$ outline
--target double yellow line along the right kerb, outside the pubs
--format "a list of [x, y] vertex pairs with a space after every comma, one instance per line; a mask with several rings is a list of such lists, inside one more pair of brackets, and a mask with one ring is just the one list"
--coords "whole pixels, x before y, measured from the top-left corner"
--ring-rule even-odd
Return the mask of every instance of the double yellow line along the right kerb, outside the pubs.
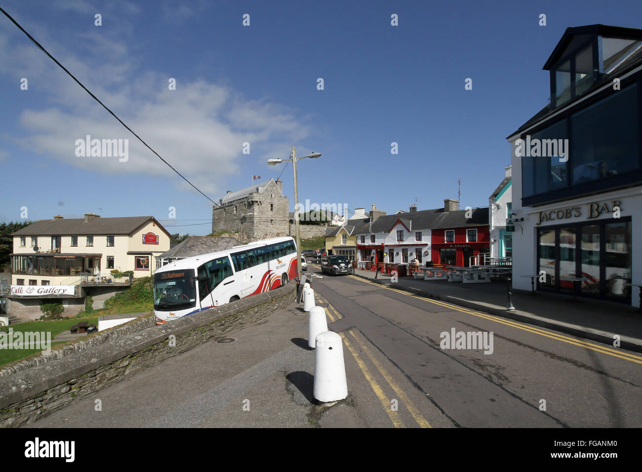
[[571, 338], [571, 337], [568, 337], [568, 336], [560, 335], [558, 333], [553, 333], [551, 331], [546, 331], [544, 329], [534, 328], [532, 326], [527, 326], [525, 324], [521, 324], [521, 323], [518, 323], [516, 321], [512, 321], [512, 320], [509, 320], [509, 319], [496, 317], [496, 316], [493, 316], [493, 315], [489, 315], [487, 313], [480, 313], [479, 311], [468, 310], [467, 308], [461, 308], [460, 306], [456, 306], [456, 305], [453, 305], [453, 304], [450, 304], [450, 303], [437, 301], [437, 300], [432, 300], [432, 299], [428, 299], [426, 297], [419, 297], [417, 295], [413, 295], [412, 293], [406, 292], [404, 290], [398, 290], [397, 288], [390, 288], [390, 287], [386, 287], [386, 286], [381, 285], [381, 284], [377, 284], [377, 283], [374, 283], [374, 282], [369, 282], [367, 280], [361, 279], [361, 277], [356, 277], [355, 275], [348, 275], [348, 277], [352, 277], [353, 279], [361, 281], [363, 283], [367, 283], [367, 284], [370, 284], [370, 285], [375, 285], [375, 286], [377, 286], [379, 288], [385, 288], [386, 290], [392, 290], [392, 292], [401, 293], [402, 295], [406, 295], [408, 297], [413, 297], [413, 298], [415, 298], [417, 300], [421, 300], [421, 301], [424, 301], [424, 302], [430, 302], [430, 303], [433, 303], [435, 305], [443, 306], [444, 308], [448, 308], [449, 310], [462, 311], [462, 313], [468, 313], [469, 315], [473, 315], [475, 317], [479, 317], [479, 318], [483, 318], [483, 319], [486, 319], [486, 320], [494, 321], [496, 323], [505, 324], [506, 326], [510, 326], [512, 328], [521, 329], [523, 331], [528, 331], [529, 333], [534, 333], [536, 335], [540, 335], [540, 336], [544, 336], [544, 337], [547, 337], [547, 338], [555, 339], [557, 341], [566, 342], [567, 344], [573, 344], [573, 345], [577, 345], [579, 347], [584, 347], [585, 349], [591, 349], [591, 351], [596, 351], [598, 353], [608, 354], [609, 356], [618, 357], [620, 359], [628, 360], [630, 362], [636, 362], [636, 363], [642, 364], [642, 357], [641, 356], [636, 356], [634, 354], [630, 354], [627, 351], [622, 351], [622, 350], [618, 351], [617, 349], [611, 349], [611, 347], [606, 347], [606, 346], [599, 345], [599, 344], [593, 344], [591, 342], [582, 341], [582, 340], [579, 340], [579, 339], [575, 339], [575, 338]]

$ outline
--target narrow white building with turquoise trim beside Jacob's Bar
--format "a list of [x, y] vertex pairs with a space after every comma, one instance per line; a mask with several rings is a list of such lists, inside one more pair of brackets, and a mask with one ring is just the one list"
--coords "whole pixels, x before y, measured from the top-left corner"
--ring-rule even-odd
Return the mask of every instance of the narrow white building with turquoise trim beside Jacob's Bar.
[[513, 233], [506, 231], [506, 220], [512, 211], [513, 191], [511, 167], [504, 168], [504, 179], [488, 199], [490, 256], [510, 258], [513, 254]]

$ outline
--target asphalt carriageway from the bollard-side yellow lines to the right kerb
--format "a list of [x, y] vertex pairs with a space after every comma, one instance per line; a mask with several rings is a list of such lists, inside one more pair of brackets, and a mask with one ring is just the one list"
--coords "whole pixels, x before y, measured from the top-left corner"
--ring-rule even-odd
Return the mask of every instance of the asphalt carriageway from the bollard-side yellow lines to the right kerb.
[[[360, 333], [455, 426], [642, 426], [639, 354], [310, 269], [343, 315], [330, 329]], [[492, 331], [492, 353], [442, 349], [453, 329]]]

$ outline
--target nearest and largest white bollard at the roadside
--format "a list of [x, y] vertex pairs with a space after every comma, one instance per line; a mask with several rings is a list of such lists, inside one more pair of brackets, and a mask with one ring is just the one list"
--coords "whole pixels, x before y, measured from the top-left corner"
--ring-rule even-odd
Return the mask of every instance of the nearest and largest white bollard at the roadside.
[[318, 401], [338, 401], [348, 396], [340, 335], [325, 331], [316, 338], [314, 396]]

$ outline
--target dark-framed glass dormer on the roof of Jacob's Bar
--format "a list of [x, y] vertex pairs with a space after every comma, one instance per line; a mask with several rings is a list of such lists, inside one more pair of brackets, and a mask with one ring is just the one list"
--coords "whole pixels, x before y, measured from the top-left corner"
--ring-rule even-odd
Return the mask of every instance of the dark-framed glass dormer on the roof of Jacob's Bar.
[[568, 28], [544, 70], [551, 73], [551, 107], [582, 96], [642, 48], [642, 30], [595, 24]]

